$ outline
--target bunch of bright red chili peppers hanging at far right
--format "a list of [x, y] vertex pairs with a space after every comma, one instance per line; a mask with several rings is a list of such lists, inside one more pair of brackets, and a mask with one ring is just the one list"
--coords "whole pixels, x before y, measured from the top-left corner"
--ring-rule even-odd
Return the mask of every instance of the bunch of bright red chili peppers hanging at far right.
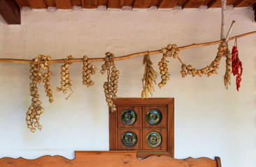
[[236, 90], [239, 91], [240, 82], [242, 81], [241, 75], [243, 74], [243, 67], [242, 62], [239, 59], [239, 51], [237, 50], [236, 45], [234, 45], [232, 49], [232, 73], [236, 76]]

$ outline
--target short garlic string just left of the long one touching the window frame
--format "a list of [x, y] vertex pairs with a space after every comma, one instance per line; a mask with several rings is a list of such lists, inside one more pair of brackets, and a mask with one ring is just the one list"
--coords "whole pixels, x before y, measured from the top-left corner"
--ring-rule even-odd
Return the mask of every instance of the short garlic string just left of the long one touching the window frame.
[[91, 79], [91, 74], [95, 74], [95, 67], [91, 65], [92, 61], [87, 56], [83, 56], [83, 84], [89, 88], [94, 85], [94, 81]]

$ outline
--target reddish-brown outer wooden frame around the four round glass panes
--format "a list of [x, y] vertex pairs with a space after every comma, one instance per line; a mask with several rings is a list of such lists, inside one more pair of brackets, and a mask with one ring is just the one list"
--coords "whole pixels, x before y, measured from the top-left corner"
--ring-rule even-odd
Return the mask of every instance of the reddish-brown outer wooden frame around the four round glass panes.
[[[137, 151], [137, 158], [144, 159], [151, 155], [167, 155], [174, 157], [174, 98], [149, 98], [142, 100], [141, 98], [118, 98], [113, 100], [116, 106], [166, 106], [167, 107], [167, 150], [166, 151]], [[118, 150], [118, 128], [117, 128], [118, 112], [111, 112], [109, 109], [109, 150]], [[128, 151], [128, 150], [127, 150]]]

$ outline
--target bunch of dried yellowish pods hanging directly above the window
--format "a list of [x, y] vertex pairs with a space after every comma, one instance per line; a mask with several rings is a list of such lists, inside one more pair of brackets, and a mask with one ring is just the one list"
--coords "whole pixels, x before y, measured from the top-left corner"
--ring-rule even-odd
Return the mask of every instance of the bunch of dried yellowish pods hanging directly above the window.
[[155, 70], [152, 67], [153, 63], [152, 61], [150, 61], [149, 54], [144, 56], [143, 64], [145, 64], [145, 71], [142, 79], [143, 90], [141, 91], [141, 98], [144, 99], [145, 97], [146, 99], [148, 99], [148, 92], [152, 95], [152, 90], [154, 90], [153, 82], [155, 82], [155, 77], [157, 77], [157, 72], [155, 72]]

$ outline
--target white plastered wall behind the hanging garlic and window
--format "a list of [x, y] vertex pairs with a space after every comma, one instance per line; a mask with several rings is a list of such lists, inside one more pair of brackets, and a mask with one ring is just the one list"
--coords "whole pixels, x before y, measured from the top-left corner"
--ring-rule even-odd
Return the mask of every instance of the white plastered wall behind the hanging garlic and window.
[[[104, 57], [106, 51], [123, 56], [155, 50], [169, 43], [178, 46], [220, 38], [220, 8], [185, 10], [23, 10], [21, 25], [7, 25], [0, 17], [0, 58], [31, 59], [37, 54], [53, 59], [72, 55]], [[253, 10], [228, 8], [231, 35], [256, 30]], [[227, 31], [226, 29], [226, 31]], [[232, 49], [234, 40], [229, 42]], [[175, 98], [175, 157], [219, 156], [225, 167], [256, 166], [256, 35], [239, 38], [243, 81], [239, 93], [235, 78], [223, 84], [224, 58], [218, 75], [181, 78], [180, 63], [170, 59], [171, 81], [156, 88], [153, 97]], [[215, 58], [218, 45], [181, 51], [184, 63], [205, 67]], [[151, 56], [155, 69], [161, 54]], [[143, 57], [117, 61], [119, 97], [140, 97]], [[99, 69], [102, 62], [94, 63]], [[60, 65], [52, 65], [51, 86], [60, 82]], [[0, 158], [35, 159], [59, 154], [73, 159], [73, 150], [108, 150], [108, 107], [102, 85], [106, 75], [92, 77], [95, 85], [82, 85], [82, 63], [70, 67], [73, 95], [69, 100], [54, 93], [49, 104], [43, 84], [39, 94], [45, 112], [43, 130], [32, 134], [25, 113], [30, 104], [29, 65], [0, 63]]]

